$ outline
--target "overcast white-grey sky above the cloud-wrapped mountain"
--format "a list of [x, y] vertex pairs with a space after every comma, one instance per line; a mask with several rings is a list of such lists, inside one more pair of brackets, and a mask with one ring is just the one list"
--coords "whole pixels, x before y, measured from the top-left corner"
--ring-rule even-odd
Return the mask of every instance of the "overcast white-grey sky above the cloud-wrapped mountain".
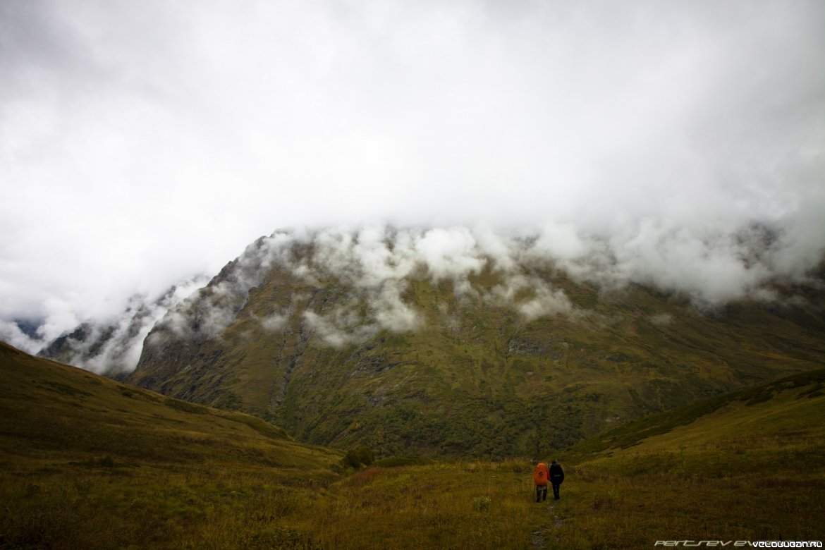
[[0, 0], [0, 324], [49, 340], [278, 228], [804, 275], [823, 57], [819, 0]]

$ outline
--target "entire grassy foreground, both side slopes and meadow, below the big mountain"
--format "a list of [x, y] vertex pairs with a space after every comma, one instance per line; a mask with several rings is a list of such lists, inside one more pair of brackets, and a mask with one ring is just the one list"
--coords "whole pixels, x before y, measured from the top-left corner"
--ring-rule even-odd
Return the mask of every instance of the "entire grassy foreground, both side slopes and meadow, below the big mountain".
[[6, 346], [0, 359], [0, 548], [825, 538], [823, 371], [651, 416], [558, 454], [563, 498], [536, 504], [526, 459], [388, 461], [336, 481], [339, 455], [250, 417], [167, 402]]

